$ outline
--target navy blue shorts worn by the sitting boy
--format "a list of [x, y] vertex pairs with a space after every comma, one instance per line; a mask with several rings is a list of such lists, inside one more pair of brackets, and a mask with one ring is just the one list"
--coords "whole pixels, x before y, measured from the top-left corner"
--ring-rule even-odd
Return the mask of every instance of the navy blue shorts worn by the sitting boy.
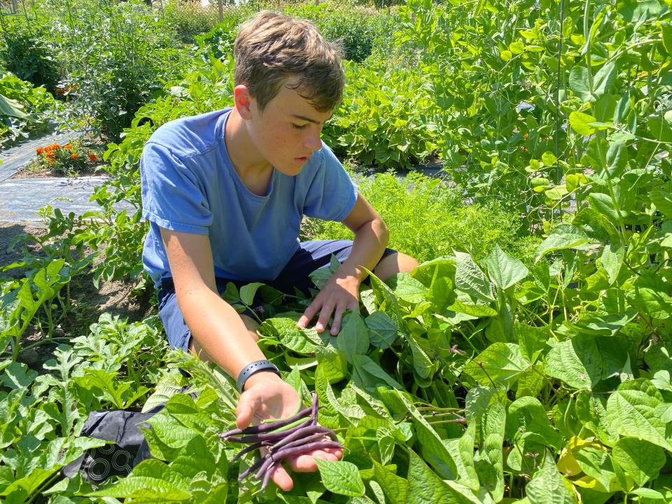
[[[329, 265], [331, 255], [335, 255], [340, 262], [344, 262], [350, 255], [351, 240], [320, 240], [302, 241], [299, 250], [292, 256], [278, 277], [272, 281], [259, 279], [267, 285], [293, 294], [294, 288], [302, 290], [306, 295], [309, 288], [314, 288], [309, 274], [315, 269]], [[396, 253], [392, 248], [386, 248], [383, 258]], [[217, 290], [221, 294], [226, 290], [226, 284], [235, 283], [237, 288], [250, 283], [248, 281], [216, 278]], [[368, 279], [367, 279], [368, 280]], [[365, 280], [365, 281], [367, 281]], [[187, 327], [182, 311], [177, 304], [177, 295], [172, 279], [163, 279], [159, 290], [159, 317], [168, 337], [171, 348], [188, 351], [191, 342], [191, 331]]]

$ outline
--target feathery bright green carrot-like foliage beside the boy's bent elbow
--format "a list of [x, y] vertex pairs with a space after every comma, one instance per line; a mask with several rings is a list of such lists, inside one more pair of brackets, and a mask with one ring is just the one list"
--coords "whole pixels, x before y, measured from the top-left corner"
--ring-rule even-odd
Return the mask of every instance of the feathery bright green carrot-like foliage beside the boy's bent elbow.
[[[496, 202], [465, 205], [461, 190], [439, 179], [411, 172], [404, 179], [391, 173], [364, 179], [360, 192], [390, 229], [388, 246], [430, 260], [450, 255], [453, 249], [482, 258], [496, 243], [521, 258], [531, 257], [529, 246], [521, 254], [519, 218]], [[352, 239], [340, 223], [309, 219], [302, 230], [309, 239]]]

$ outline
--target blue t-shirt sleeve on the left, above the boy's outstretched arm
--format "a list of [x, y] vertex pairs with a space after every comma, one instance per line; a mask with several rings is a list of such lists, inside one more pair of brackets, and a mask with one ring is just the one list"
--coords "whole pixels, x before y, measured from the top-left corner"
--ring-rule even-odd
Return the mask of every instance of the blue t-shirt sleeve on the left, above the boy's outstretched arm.
[[168, 148], [148, 142], [140, 158], [142, 216], [162, 228], [208, 235], [212, 223], [204, 191]]

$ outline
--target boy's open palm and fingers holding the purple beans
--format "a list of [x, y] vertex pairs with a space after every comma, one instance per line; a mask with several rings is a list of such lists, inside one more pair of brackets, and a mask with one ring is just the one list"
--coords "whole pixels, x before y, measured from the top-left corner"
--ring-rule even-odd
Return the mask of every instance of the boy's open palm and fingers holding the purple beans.
[[[298, 402], [299, 396], [293, 386], [286, 384], [276, 374], [255, 373], [246, 381], [245, 391], [238, 401], [236, 426], [246, 428], [251, 424], [258, 425], [262, 420], [291, 416], [295, 414]], [[317, 470], [316, 458], [337, 461], [342, 456], [343, 450], [327, 448], [288, 458], [288, 463], [295, 472], [312, 472]], [[291, 490], [294, 485], [282, 465], [278, 465], [271, 477], [284, 491]]]

